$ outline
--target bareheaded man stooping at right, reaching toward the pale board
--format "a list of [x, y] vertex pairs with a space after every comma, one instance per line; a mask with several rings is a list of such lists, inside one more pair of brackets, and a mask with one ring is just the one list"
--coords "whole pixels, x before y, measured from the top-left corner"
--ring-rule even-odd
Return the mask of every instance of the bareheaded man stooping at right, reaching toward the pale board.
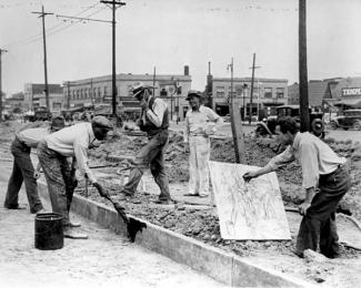
[[338, 203], [351, 186], [345, 158], [339, 157], [329, 145], [309, 132], [298, 132], [294, 119], [279, 121], [280, 141], [289, 145], [264, 167], [248, 172], [244, 181], [275, 171], [281, 165], [298, 160], [302, 167], [304, 202], [299, 206], [303, 215], [297, 237], [295, 254], [303, 257], [305, 249], [320, 251], [329, 258], [339, 254], [335, 227]]

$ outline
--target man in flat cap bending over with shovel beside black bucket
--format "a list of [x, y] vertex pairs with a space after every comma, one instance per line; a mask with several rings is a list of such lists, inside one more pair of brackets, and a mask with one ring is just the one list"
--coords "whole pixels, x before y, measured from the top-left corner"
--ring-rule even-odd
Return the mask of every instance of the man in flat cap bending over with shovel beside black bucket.
[[112, 125], [108, 119], [96, 116], [91, 123], [74, 124], [48, 135], [38, 145], [38, 156], [48, 183], [52, 210], [63, 216], [64, 237], [88, 238], [87, 235], [77, 233], [73, 228], [80, 225], [69, 219], [74, 187], [67, 158], [74, 157], [80, 173], [89, 178], [100, 195], [107, 195], [89, 168], [88, 148], [94, 140], [106, 140], [111, 130]]

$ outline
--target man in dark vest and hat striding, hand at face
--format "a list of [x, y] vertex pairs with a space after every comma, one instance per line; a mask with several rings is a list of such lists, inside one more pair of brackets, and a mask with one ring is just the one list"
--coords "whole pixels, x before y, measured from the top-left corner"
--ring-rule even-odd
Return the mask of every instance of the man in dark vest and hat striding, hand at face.
[[133, 96], [142, 107], [141, 119], [137, 121], [141, 131], [147, 132], [149, 142], [143, 146], [132, 161], [129, 182], [121, 191], [120, 199], [132, 196], [146, 171], [150, 171], [160, 188], [158, 204], [171, 204], [168, 175], [164, 165], [164, 151], [168, 144], [169, 112], [167, 103], [152, 95], [152, 88], [141, 82], [132, 86]]

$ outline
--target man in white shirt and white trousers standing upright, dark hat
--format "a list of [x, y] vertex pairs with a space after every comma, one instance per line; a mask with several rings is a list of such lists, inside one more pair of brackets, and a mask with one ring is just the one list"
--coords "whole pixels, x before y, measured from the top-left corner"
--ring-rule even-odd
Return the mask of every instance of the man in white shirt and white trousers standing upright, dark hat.
[[[213, 110], [202, 104], [203, 96], [199, 91], [188, 92], [190, 110], [185, 115], [184, 142], [189, 154], [189, 185], [184, 196], [207, 197], [209, 195], [208, 161], [211, 154], [209, 136], [214, 134], [223, 119]], [[215, 123], [215, 124], [214, 124]]]

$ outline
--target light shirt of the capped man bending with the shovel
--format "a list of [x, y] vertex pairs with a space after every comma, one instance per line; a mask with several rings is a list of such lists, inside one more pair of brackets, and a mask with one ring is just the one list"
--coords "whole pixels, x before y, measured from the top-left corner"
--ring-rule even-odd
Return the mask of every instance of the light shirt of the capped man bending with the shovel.
[[91, 123], [79, 123], [62, 128], [44, 140], [49, 148], [67, 157], [74, 156], [79, 171], [87, 174], [91, 183], [97, 182], [88, 165], [88, 148], [96, 140]]

